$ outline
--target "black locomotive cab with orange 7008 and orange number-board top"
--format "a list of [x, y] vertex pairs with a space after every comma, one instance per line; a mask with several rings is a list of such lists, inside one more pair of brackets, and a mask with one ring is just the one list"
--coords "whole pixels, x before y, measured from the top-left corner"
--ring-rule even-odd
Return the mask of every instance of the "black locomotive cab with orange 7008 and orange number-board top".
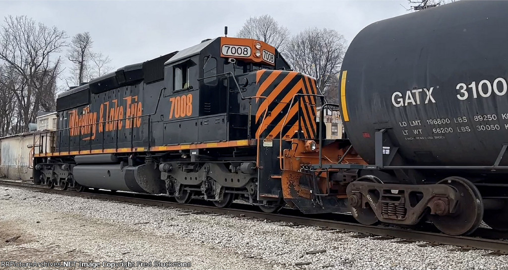
[[[289, 70], [289, 65], [264, 42], [219, 37], [177, 52], [165, 64], [164, 98], [169, 98], [164, 144], [220, 142], [252, 137], [245, 129], [248, 112], [238, 93], [255, 82], [257, 70]], [[242, 93], [251, 96], [251, 93]]]

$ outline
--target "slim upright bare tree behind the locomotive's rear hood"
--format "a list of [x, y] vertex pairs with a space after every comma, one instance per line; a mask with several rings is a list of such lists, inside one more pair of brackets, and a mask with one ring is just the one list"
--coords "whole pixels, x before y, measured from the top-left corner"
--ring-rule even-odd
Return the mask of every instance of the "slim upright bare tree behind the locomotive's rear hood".
[[83, 82], [83, 77], [87, 72], [92, 45], [93, 41], [88, 32], [78, 33], [72, 38], [67, 57], [74, 64], [71, 72], [78, 85]]

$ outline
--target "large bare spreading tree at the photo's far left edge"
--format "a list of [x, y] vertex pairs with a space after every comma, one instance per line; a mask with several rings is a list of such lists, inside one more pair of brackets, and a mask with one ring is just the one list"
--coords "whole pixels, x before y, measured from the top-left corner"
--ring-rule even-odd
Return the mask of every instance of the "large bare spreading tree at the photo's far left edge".
[[0, 65], [7, 69], [6, 91], [13, 94], [14, 132], [28, 130], [37, 112], [53, 109], [55, 80], [59, 75], [61, 49], [67, 35], [26, 16], [8, 16], [0, 31]]

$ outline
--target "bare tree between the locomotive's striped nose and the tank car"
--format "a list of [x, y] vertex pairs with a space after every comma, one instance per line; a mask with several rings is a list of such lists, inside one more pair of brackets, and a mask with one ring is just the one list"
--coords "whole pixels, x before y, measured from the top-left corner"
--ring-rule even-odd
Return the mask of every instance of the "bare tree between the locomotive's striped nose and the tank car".
[[344, 36], [333, 29], [313, 27], [291, 39], [286, 58], [295, 71], [314, 77], [323, 94], [336, 100], [333, 88], [345, 51]]

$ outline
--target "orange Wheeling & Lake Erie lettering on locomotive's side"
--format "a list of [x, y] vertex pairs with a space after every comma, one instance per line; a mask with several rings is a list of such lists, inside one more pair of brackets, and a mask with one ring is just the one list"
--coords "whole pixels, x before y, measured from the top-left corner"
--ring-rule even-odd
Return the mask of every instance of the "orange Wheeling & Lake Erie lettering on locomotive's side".
[[[99, 113], [91, 112], [90, 107], [69, 111], [69, 128], [71, 136], [89, 135], [83, 140], [93, 140], [97, 133], [141, 127], [143, 104], [138, 96], [129, 96], [120, 100], [106, 101], [101, 104]], [[125, 105], [125, 106], [123, 106]]]

